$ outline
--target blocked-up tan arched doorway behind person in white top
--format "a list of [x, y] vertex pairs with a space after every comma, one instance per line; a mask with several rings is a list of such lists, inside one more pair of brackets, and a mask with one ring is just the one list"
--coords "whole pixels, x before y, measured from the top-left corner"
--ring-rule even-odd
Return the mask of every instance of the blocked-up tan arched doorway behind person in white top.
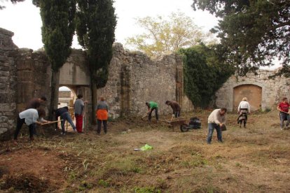
[[262, 102], [262, 88], [257, 85], [240, 85], [233, 89], [233, 107], [237, 110], [240, 101], [243, 97], [248, 98], [251, 105], [251, 110], [258, 110], [261, 108]]

